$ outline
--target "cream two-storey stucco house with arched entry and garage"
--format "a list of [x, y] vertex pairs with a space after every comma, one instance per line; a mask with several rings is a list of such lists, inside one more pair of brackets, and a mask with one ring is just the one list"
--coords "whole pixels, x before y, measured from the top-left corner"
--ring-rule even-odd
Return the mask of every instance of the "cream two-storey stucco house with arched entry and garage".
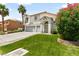
[[55, 29], [56, 14], [41, 12], [24, 16], [26, 32], [51, 33]]

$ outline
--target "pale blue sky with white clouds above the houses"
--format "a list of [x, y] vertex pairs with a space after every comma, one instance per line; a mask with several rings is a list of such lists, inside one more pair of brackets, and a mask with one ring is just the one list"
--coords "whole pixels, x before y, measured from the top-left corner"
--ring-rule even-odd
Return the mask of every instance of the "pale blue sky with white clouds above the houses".
[[[18, 7], [20, 4], [18, 3], [7, 3], [5, 6], [9, 9], [9, 16], [5, 17], [6, 19], [16, 19], [21, 21], [21, 14], [18, 12]], [[59, 9], [66, 7], [66, 3], [31, 3], [31, 4], [23, 4], [26, 8], [26, 14], [35, 14], [39, 12], [50, 12], [57, 14]], [[1, 16], [0, 16], [1, 21]]]

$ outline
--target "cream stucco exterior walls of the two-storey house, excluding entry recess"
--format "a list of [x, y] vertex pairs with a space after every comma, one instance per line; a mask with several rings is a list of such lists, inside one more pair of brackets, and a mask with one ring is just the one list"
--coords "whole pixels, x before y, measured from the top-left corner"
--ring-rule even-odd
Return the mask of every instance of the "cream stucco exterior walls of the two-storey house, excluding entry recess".
[[[48, 21], [48, 28], [46, 26], [46, 29], [43, 27], [44, 24], [43, 25], [41, 24], [41, 22], [42, 22], [41, 19], [45, 16], [48, 18], [48, 19], [45, 20], [45, 21]], [[28, 16], [25, 16], [25, 17], [26, 18], [28, 17], [28, 23], [25, 24], [25, 30], [26, 31], [44, 32], [46, 30], [46, 32], [52, 32], [52, 30], [54, 28], [53, 24], [54, 24], [56, 15], [51, 14], [51, 13], [47, 13], [47, 12], [43, 12], [43, 13], [38, 13], [38, 14], [34, 14], [34, 15], [28, 15]], [[36, 19], [35, 19], [35, 17], [36, 17]], [[49, 23], [50, 20], [51, 20], [51, 22], [50, 22], [51, 24]]]

